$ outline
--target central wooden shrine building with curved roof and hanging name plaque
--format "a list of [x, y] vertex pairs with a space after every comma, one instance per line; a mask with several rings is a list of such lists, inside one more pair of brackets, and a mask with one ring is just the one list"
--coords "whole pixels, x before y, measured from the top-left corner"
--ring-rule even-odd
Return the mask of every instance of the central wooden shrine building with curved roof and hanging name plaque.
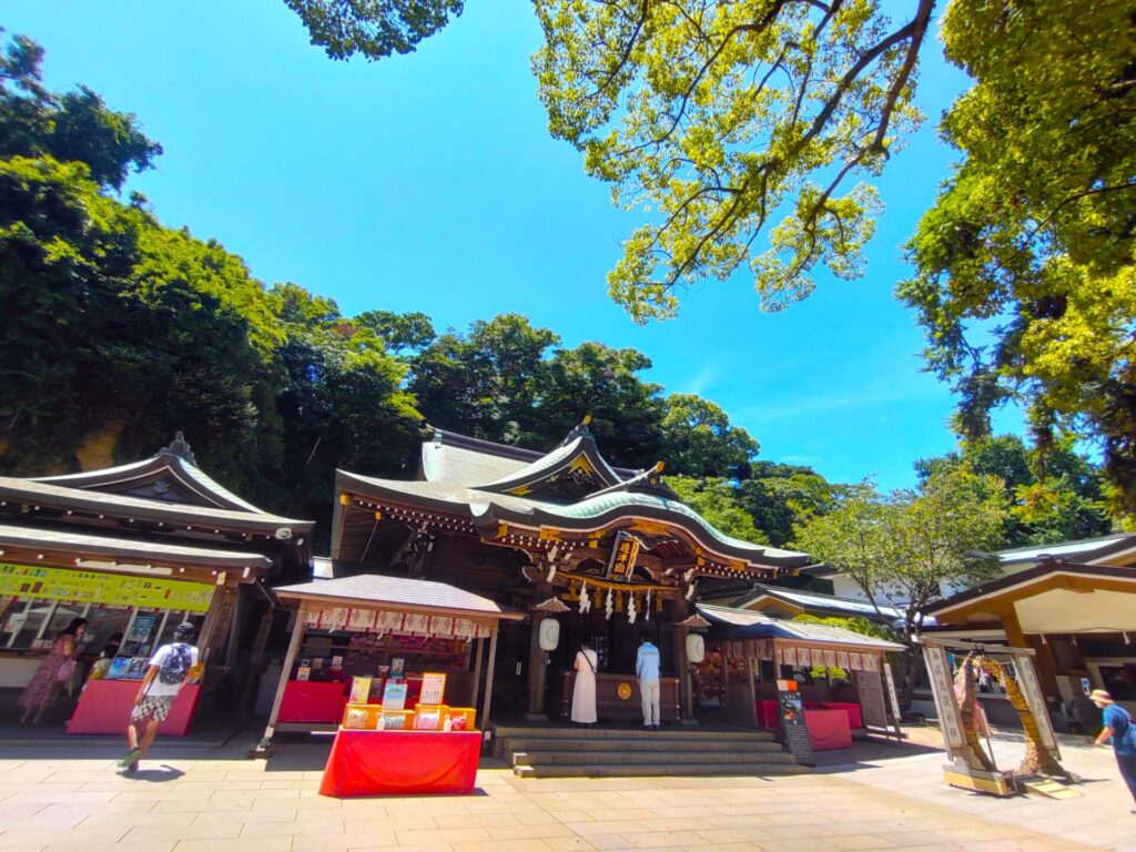
[[[546, 453], [436, 432], [415, 481], [339, 471], [334, 574], [429, 579], [527, 611], [527, 624], [502, 628], [499, 716], [540, 718], [558, 707], [559, 673], [582, 640], [602, 673], [628, 675], [646, 637], [663, 676], [679, 682], [690, 719], [684, 623], [698, 598], [795, 574], [809, 560], [715, 529], [661, 471], [610, 466], [587, 421]], [[542, 651], [550, 618], [560, 641]]]

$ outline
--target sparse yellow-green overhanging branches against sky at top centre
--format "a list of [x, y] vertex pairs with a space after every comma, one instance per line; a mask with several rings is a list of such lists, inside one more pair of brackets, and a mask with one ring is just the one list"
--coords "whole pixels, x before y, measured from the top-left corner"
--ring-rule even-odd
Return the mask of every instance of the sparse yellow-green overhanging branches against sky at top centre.
[[608, 276], [635, 320], [673, 316], [678, 285], [743, 265], [770, 309], [808, 295], [818, 265], [862, 273], [879, 201], [847, 184], [878, 174], [919, 120], [912, 82], [933, 0], [894, 26], [874, 0], [535, 6], [552, 135], [584, 152], [616, 203], [652, 215]]

